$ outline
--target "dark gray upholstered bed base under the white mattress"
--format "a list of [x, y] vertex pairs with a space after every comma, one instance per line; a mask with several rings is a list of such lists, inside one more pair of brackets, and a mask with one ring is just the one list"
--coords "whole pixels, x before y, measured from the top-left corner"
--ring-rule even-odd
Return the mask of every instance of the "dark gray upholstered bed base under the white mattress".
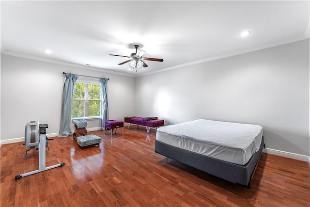
[[155, 140], [155, 152], [167, 158], [182, 162], [188, 166], [208, 174], [220, 177], [233, 183], [247, 186], [250, 189], [250, 180], [254, 174], [258, 161], [265, 146], [262, 137], [260, 149], [254, 153], [245, 165], [233, 164], [223, 160], [207, 157], [182, 148], [171, 146]]

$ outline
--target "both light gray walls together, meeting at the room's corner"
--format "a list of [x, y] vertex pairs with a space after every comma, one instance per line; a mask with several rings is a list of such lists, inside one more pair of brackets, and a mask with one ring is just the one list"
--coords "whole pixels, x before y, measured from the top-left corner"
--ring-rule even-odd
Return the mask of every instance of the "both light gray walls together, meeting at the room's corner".
[[[259, 124], [266, 147], [310, 155], [309, 39], [136, 78], [1, 54], [0, 140], [28, 121], [58, 133], [63, 74], [109, 78], [109, 118], [158, 116]], [[89, 121], [88, 128], [100, 127]], [[73, 129], [73, 126], [72, 126]]]

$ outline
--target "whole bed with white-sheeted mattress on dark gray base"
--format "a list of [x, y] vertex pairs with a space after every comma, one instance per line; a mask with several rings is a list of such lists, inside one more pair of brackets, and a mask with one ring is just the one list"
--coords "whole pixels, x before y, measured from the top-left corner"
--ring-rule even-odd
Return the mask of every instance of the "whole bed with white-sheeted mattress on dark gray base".
[[263, 127], [199, 119], [160, 127], [155, 152], [250, 188], [264, 147]]

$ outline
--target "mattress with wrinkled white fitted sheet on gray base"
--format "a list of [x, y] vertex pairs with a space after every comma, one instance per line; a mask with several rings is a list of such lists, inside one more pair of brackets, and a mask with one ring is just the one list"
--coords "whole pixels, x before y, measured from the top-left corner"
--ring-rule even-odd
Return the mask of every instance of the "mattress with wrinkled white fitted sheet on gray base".
[[245, 165], [260, 148], [263, 127], [199, 119], [160, 127], [156, 140], [227, 162]]

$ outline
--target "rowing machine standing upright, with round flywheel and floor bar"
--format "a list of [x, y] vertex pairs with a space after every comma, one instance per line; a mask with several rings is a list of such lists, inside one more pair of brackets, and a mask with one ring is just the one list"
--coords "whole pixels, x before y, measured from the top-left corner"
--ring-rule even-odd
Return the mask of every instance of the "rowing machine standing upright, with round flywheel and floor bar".
[[[47, 124], [40, 125], [37, 121], [27, 122], [25, 127], [25, 145], [26, 145], [26, 154], [30, 149], [38, 149], [39, 150], [39, 170], [34, 170], [29, 173], [24, 173], [21, 175], [16, 175], [15, 179], [20, 179], [21, 177], [25, 177], [27, 175], [32, 175], [35, 173], [40, 173], [42, 171], [46, 171], [52, 168], [61, 167], [64, 165], [64, 162], [52, 165], [49, 167], [45, 166], [45, 156], [48, 140], [46, 136], [46, 128]], [[52, 140], [52, 139], [50, 139]]]

